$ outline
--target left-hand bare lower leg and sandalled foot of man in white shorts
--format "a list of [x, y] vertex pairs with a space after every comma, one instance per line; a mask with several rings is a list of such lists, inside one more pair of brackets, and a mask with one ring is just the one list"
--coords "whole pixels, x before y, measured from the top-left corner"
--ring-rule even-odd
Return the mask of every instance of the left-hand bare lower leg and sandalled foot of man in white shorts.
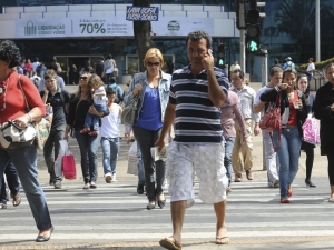
[[173, 236], [166, 237], [165, 239], [171, 242], [176, 241], [175, 244], [177, 247], [181, 247], [181, 230], [184, 226], [186, 208], [187, 201], [185, 200], [170, 202]]

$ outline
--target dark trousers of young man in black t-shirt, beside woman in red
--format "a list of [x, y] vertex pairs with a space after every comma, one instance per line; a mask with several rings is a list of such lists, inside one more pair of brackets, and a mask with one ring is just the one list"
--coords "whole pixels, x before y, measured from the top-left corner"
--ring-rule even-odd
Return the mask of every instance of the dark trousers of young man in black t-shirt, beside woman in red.
[[[61, 177], [56, 177], [55, 174], [55, 159], [58, 157], [59, 150], [60, 150], [60, 143], [59, 141], [63, 139], [65, 134], [65, 126], [62, 129], [51, 129], [50, 134], [48, 137], [48, 140], [46, 141], [45, 148], [43, 148], [43, 154], [45, 154], [45, 161], [48, 166], [48, 172], [50, 174], [50, 181], [61, 181]], [[55, 147], [55, 157], [52, 157], [52, 150]]]

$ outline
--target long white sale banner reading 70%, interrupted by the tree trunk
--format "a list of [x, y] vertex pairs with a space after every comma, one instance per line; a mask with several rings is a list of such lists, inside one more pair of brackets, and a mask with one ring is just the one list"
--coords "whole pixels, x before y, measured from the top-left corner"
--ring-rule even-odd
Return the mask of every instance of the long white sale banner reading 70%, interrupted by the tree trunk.
[[[134, 22], [125, 18], [37, 18], [16, 20], [16, 38], [134, 37]], [[205, 30], [214, 36], [214, 19], [160, 17], [151, 22], [153, 36], [187, 36]]]

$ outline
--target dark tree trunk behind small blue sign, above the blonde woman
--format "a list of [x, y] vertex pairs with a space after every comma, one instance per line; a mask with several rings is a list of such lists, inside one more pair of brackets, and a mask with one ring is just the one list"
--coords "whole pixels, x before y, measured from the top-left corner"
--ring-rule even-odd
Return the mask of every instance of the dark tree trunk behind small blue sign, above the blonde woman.
[[[151, 2], [151, 0], [134, 0], [134, 6], [149, 7]], [[154, 47], [150, 32], [150, 21], [134, 21], [134, 34], [139, 54], [139, 70], [141, 72], [145, 71], [143, 59], [147, 50]]]

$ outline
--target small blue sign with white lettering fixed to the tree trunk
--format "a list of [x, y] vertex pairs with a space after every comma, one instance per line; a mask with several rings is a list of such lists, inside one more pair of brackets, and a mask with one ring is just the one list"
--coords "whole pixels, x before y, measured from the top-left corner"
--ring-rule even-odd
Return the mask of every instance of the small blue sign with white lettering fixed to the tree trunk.
[[158, 21], [159, 8], [127, 6], [126, 19], [128, 21]]

